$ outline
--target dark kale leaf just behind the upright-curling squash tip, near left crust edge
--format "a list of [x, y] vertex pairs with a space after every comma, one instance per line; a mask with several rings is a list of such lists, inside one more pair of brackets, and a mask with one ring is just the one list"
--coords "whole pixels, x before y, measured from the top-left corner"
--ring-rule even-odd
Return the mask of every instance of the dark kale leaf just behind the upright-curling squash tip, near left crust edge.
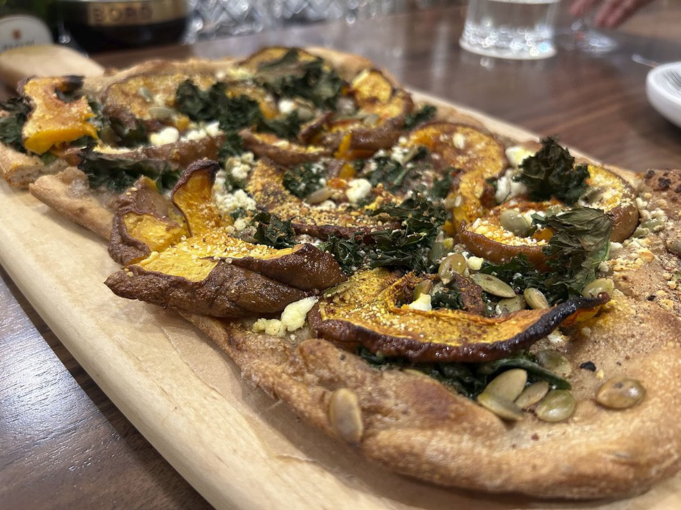
[[126, 160], [95, 153], [90, 148], [83, 151], [78, 167], [88, 176], [90, 187], [106, 187], [115, 192], [132, 186], [140, 176], [154, 180], [158, 189], [166, 192], [172, 189], [181, 173], [164, 160]]

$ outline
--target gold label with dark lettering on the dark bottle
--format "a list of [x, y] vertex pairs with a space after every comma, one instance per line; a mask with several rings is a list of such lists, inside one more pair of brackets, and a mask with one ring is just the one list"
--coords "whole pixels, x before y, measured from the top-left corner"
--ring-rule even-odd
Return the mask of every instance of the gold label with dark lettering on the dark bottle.
[[[88, 26], [144, 26], [187, 15], [186, 0], [88, 1], [72, 4]], [[83, 12], [85, 11], [85, 12]]]

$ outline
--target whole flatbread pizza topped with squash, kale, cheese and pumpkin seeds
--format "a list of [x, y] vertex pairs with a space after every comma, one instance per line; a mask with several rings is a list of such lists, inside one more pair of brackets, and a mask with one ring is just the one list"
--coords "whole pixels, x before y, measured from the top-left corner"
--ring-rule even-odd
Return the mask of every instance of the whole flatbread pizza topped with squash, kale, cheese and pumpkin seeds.
[[3, 109], [3, 177], [108, 240], [114, 294], [368, 459], [539, 498], [678, 472], [681, 171], [510, 139], [322, 49], [34, 78]]

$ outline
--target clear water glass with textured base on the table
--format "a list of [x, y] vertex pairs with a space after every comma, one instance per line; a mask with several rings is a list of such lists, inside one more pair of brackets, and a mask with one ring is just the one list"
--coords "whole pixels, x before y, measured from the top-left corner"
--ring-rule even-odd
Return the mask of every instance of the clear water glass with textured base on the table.
[[470, 0], [459, 44], [484, 56], [530, 60], [556, 53], [559, 0]]

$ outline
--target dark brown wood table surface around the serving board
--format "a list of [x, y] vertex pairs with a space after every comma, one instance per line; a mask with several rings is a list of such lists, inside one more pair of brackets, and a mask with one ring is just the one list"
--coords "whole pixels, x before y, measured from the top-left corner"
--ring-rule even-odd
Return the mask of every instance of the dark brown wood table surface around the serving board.
[[[559, 134], [561, 142], [599, 160], [634, 171], [680, 168], [681, 128], [650, 107], [649, 69], [631, 60], [633, 53], [681, 60], [681, 6], [662, 0], [656, 9], [614, 33], [618, 49], [600, 57], [559, 51], [555, 58], [520, 62], [466, 53], [457, 42], [464, 9], [454, 6], [97, 60], [122, 67], [151, 57], [245, 55], [266, 44], [328, 46], [367, 56], [416, 90], [541, 135]], [[567, 24], [561, 16], [559, 26]], [[208, 507], [114, 407], [2, 269], [0, 507]]]

